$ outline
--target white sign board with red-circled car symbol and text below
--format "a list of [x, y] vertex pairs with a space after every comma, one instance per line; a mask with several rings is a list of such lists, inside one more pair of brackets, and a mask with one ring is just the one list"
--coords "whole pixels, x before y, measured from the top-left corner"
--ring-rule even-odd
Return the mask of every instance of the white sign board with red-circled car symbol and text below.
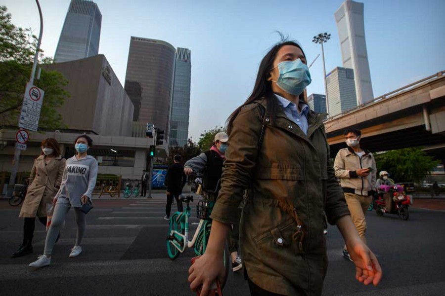
[[26, 85], [19, 127], [37, 132], [44, 94], [42, 89], [29, 83]]

